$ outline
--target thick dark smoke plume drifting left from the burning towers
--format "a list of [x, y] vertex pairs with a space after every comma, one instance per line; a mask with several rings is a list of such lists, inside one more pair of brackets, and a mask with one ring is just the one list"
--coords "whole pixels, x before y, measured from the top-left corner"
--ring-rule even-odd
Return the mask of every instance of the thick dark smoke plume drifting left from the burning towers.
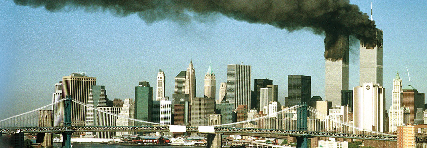
[[[159, 20], [191, 21], [222, 14], [249, 23], [269, 24], [290, 32], [309, 28], [315, 34], [335, 35], [325, 39], [325, 49], [339, 35], [352, 35], [375, 44], [375, 24], [348, 0], [14, 0], [17, 5], [44, 7], [56, 12], [68, 7], [110, 11], [114, 15], [137, 14], [146, 23]], [[191, 12], [192, 15], [186, 15]], [[325, 58], [336, 59], [333, 51]]]

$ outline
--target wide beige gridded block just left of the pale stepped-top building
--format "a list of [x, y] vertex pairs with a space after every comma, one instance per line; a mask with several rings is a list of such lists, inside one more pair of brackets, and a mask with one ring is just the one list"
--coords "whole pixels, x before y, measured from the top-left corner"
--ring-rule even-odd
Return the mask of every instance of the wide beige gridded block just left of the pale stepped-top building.
[[[96, 126], [116, 126], [116, 122], [118, 117], [111, 116], [108, 113], [120, 114], [120, 107], [98, 107], [99, 110], [102, 110], [107, 113], [98, 112], [97, 125]], [[114, 138], [116, 136], [116, 132], [114, 131], [104, 131], [104, 132], [96, 132], [97, 138]]]

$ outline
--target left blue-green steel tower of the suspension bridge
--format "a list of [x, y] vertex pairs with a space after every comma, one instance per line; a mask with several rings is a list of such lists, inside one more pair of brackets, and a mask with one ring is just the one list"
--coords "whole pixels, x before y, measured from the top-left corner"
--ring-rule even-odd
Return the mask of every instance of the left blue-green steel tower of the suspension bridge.
[[62, 133], [62, 148], [71, 148], [71, 102], [73, 98], [70, 95], [66, 96], [64, 100], [64, 127], [69, 131]]

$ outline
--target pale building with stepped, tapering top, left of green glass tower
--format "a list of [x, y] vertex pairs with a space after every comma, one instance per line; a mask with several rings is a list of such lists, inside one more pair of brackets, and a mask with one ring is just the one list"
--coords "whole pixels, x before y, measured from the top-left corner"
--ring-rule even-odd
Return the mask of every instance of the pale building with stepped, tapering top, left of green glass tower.
[[[135, 103], [133, 102], [133, 99], [126, 98], [123, 102], [123, 107], [120, 109], [120, 116], [126, 117], [126, 118], [135, 118]], [[125, 119], [125, 118], [118, 118], [116, 120], [116, 126], [133, 126], [134, 121]], [[116, 137], [121, 137], [124, 134], [133, 134], [132, 132], [122, 131], [122, 132], [116, 132]]]

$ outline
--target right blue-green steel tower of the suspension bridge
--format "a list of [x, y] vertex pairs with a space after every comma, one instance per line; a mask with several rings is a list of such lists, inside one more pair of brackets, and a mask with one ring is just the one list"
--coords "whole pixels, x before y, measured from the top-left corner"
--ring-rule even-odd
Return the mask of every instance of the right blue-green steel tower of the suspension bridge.
[[[307, 131], [307, 117], [308, 117], [308, 105], [307, 103], [303, 103], [301, 107], [297, 108], [297, 124], [296, 130], [298, 131]], [[297, 148], [308, 148], [308, 135], [302, 135], [296, 137], [296, 147]]]

